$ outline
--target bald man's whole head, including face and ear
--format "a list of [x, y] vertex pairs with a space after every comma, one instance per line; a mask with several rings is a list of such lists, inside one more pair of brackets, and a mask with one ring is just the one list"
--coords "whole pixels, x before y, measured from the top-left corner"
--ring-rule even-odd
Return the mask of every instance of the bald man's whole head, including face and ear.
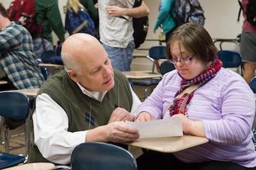
[[64, 41], [61, 57], [68, 76], [91, 92], [104, 92], [115, 85], [108, 54], [95, 37], [77, 33]]

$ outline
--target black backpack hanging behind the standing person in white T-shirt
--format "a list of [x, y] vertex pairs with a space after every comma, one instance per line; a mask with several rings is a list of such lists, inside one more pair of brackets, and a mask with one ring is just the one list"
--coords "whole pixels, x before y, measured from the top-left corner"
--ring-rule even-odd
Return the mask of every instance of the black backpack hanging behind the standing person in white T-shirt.
[[[142, 0], [135, 0], [133, 7], [139, 7], [141, 3]], [[135, 48], [139, 48], [147, 36], [147, 30], [149, 28], [148, 17], [132, 18], [132, 25], [134, 29], [133, 38]]]

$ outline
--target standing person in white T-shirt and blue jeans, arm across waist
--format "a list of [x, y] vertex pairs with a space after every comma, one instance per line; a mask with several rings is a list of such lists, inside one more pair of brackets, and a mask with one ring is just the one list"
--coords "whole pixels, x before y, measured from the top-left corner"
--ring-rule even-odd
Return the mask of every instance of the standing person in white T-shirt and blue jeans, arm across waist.
[[135, 0], [98, 1], [100, 41], [109, 54], [114, 69], [130, 71], [132, 53], [135, 48], [132, 18], [150, 14], [144, 1], [133, 7]]

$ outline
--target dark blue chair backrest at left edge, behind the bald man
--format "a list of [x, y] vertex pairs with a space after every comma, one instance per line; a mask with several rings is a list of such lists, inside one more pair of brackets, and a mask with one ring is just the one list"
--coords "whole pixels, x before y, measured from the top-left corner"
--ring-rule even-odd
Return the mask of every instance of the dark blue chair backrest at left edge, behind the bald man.
[[29, 98], [19, 92], [0, 92], [0, 116], [25, 120], [29, 115]]

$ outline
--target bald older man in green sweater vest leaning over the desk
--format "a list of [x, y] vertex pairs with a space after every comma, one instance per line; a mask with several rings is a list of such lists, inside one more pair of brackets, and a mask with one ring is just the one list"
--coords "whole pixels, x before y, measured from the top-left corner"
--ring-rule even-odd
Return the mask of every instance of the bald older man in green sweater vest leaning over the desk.
[[141, 103], [128, 80], [112, 68], [106, 51], [91, 35], [64, 41], [65, 70], [40, 89], [33, 113], [31, 161], [70, 163], [75, 146], [86, 141], [127, 143], [139, 138], [123, 122]]

